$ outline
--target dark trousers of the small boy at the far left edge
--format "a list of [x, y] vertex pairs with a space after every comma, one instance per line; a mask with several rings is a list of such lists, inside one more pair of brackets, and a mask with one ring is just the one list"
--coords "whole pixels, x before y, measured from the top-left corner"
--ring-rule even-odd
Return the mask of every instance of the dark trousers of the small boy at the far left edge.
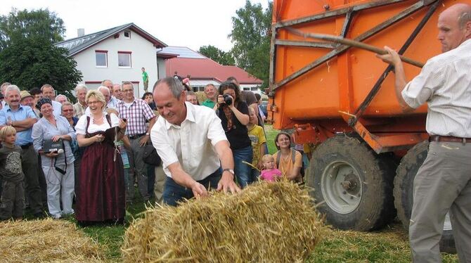
[[19, 219], [23, 217], [23, 206], [25, 206], [25, 192], [23, 182], [2, 182], [0, 220], [13, 217]]

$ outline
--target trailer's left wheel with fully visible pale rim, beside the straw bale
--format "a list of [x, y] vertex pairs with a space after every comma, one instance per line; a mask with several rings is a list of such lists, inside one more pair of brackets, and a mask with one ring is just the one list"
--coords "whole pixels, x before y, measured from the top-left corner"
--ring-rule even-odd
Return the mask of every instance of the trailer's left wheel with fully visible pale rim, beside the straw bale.
[[345, 134], [314, 151], [307, 184], [319, 212], [339, 229], [380, 229], [396, 214], [392, 198], [394, 169], [366, 143]]

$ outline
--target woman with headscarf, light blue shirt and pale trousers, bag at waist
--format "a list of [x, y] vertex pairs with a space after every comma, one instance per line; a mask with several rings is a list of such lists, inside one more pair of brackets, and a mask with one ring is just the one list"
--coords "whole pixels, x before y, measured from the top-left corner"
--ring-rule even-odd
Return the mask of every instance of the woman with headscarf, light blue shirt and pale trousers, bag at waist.
[[52, 101], [49, 98], [41, 98], [36, 107], [42, 117], [33, 125], [33, 146], [41, 155], [41, 166], [47, 184], [49, 214], [58, 219], [63, 215], [74, 213], [72, 198], [75, 158], [70, 142], [75, 139], [75, 131], [65, 117], [53, 115]]

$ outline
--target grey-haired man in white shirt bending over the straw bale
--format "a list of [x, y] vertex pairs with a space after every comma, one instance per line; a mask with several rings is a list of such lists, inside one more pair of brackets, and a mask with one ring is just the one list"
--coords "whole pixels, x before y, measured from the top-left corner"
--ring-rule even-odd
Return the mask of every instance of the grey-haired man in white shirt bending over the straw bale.
[[161, 117], [150, 139], [168, 177], [164, 203], [206, 196], [209, 186], [224, 193], [240, 191], [234, 182], [232, 151], [214, 110], [186, 102], [183, 85], [173, 77], [155, 83], [153, 95]]

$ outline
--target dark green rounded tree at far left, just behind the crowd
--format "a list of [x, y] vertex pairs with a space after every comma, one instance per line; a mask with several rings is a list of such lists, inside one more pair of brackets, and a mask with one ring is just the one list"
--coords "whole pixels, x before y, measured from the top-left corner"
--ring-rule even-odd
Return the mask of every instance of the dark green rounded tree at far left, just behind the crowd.
[[28, 37], [0, 51], [0, 83], [11, 82], [28, 90], [51, 84], [58, 93], [71, 96], [70, 90], [82, 80], [76, 65], [67, 58], [67, 49], [43, 37]]

